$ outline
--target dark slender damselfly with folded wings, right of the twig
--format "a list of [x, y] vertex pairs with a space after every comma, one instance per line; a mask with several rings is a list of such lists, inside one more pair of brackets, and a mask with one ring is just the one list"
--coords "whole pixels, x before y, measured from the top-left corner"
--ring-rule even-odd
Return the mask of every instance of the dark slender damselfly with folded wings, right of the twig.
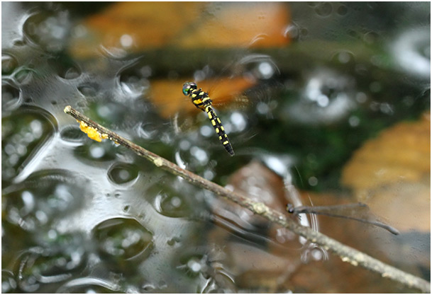
[[384, 224], [378, 221], [375, 216], [370, 212], [369, 206], [364, 203], [351, 203], [351, 204], [339, 204], [329, 206], [298, 206], [294, 207], [292, 204], [287, 204], [287, 212], [298, 215], [298, 214], [320, 214], [325, 216], [340, 217], [345, 219], [353, 219], [360, 221], [365, 224], [372, 224], [379, 226], [382, 229], [399, 235], [399, 231], [394, 227]]

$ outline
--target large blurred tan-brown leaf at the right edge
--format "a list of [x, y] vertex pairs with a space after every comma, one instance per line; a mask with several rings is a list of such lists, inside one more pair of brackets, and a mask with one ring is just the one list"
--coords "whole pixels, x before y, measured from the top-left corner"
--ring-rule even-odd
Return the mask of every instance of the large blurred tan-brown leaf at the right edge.
[[431, 229], [431, 117], [402, 122], [355, 152], [342, 183], [399, 230]]

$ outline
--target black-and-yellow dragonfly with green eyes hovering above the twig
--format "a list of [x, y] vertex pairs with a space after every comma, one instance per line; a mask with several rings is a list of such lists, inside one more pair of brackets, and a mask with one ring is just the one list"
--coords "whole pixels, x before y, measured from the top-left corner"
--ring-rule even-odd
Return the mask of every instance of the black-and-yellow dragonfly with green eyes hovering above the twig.
[[225, 132], [225, 128], [223, 128], [221, 119], [219, 119], [216, 112], [214, 112], [211, 107], [211, 99], [209, 98], [209, 93], [206, 93], [198, 89], [196, 83], [194, 82], [186, 82], [183, 84], [183, 94], [184, 96], [189, 96], [192, 99], [192, 103], [199, 108], [203, 112], [206, 112], [209, 116], [209, 120], [211, 125], [213, 125], [214, 130], [218, 134], [219, 140], [221, 141], [223, 147], [228, 151], [228, 154], [234, 156], [233, 146], [231, 146], [231, 142], [228, 139], [228, 135]]

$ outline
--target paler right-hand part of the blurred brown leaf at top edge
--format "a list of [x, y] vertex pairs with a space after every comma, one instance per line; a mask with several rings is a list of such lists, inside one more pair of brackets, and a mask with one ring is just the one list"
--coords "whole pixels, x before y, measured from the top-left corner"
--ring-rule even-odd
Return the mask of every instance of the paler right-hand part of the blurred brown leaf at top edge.
[[287, 45], [283, 35], [289, 24], [283, 3], [234, 3], [201, 16], [178, 45], [196, 47], [278, 47]]

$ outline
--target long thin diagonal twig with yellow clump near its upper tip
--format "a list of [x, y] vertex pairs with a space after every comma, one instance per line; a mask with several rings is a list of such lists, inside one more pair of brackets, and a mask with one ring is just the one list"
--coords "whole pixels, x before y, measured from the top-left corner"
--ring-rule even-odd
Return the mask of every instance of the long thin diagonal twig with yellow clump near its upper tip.
[[[206, 180], [199, 175], [195, 175], [188, 170], [184, 170], [179, 166], [175, 165], [175, 163], [167, 161], [165, 158], [157, 156], [157, 154], [153, 154], [152, 152], [143, 149], [141, 146], [134, 144], [132, 141], [129, 141], [128, 139], [121, 137], [115, 132], [112, 132], [106, 127], [97, 124], [93, 120], [90, 120], [88, 117], [82, 115], [80, 112], [72, 108], [70, 105], [67, 105], [64, 111], [65, 113], [71, 115], [81, 123], [81, 128], [84, 132], [92, 133], [92, 138], [94, 137], [94, 133], [96, 132], [96, 134], [99, 135], [99, 138], [96, 138], [96, 140], [100, 141], [101, 138], [106, 138], [116, 142], [117, 144], [126, 146], [126, 148], [131, 149], [139, 156], [147, 158], [149, 161], [155, 164], [155, 166], [167, 170], [174, 175], [180, 176], [187, 180], [189, 183], [192, 183], [193, 185], [202, 187], [206, 190], [210, 190], [216, 195], [225, 197], [226, 199], [236, 202], [242, 207], [250, 209], [250, 211], [252, 211], [253, 213], [263, 216], [265, 217], [265, 219], [275, 222], [283, 226], [284, 228], [289, 229], [294, 233], [297, 233], [299, 236], [303, 236], [312, 243], [323, 246], [323, 248], [326, 248], [326, 250], [330, 250], [331, 252], [335, 253], [345, 262], [350, 262], [354, 266], [361, 266], [367, 270], [377, 272], [381, 274], [382, 277], [393, 279], [394, 281], [404, 284], [406, 287], [419, 289], [420, 291], [423, 291], [425, 293], [431, 293], [431, 283], [427, 282], [425, 279], [415, 277], [412, 274], [408, 274], [406, 272], [398, 270], [396, 267], [386, 265], [380, 260], [372, 258], [365, 253], [355, 250], [354, 248], [350, 248], [347, 245], [339, 243], [333, 238], [329, 238], [328, 236], [323, 235], [323, 233], [313, 231], [309, 227], [297, 224], [297, 222], [295, 222], [294, 220], [287, 218], [284, 214], [270, 209], [261, 202], [255, 202], [248, 197], [238, 194], [237, 192], [227, 190], [225, 187], [221, 187], [220, 185], [212, 183], [211, 181]], [[89, 134], [89, 136], [91, 135]]]

